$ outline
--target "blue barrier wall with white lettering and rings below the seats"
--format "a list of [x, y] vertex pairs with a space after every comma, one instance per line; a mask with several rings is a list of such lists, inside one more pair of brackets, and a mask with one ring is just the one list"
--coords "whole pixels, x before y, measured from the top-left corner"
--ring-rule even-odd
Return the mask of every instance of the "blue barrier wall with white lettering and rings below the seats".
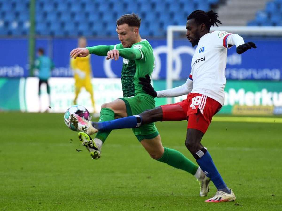
[[[166, 40], [148, 40], [155, 52], [156, 68], [154, 79], [166, 78]], [[252, 49], [242, 55], [236, 53], [236, 48], [228, 50], [226, 78], [234, 80], [281, 80], [282, 62], [280, 47], [281, 39], [247, 38], [245, 42], [253, 41], [257, 49]], [[111, 45], [119, 43], [115, 40], [89, 39], [88, 45]], [[56, 68], [54, 77], [70, 77], [69, 53], [76, 48], [76, 39], [37, 39], [36, 48], [43, 47], [47, 55], [52, 57]], [[27, 77], [28, 73], [28, 40], [0, 40], [0, 77]], [[174, 71], [175, 80], [186, 79], [191, 69], [193, 48], [186, 39], [174, 41]], [[122, 60], [106, 61], [104, 57], [92, 55], [93, 77], [120, 77]]]

